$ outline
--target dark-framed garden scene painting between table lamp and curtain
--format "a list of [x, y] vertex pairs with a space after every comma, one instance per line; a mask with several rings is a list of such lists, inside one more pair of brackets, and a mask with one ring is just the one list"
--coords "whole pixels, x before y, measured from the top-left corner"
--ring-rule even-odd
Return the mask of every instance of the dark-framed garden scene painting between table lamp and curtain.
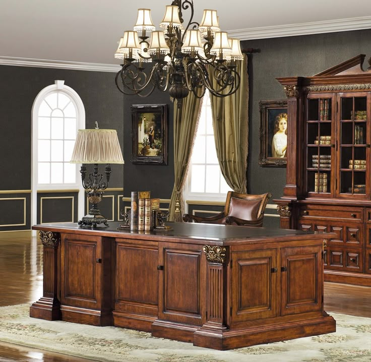
[[136, 164], [167, 165], [167, 104], [134, 104], [133, 152]]

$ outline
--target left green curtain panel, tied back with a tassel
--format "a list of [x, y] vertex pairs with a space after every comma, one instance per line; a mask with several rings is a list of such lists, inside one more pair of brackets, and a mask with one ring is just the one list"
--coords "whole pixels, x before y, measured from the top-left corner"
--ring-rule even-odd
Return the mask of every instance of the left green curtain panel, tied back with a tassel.
[[169, 221], [181, 221], [184, 210], [182, 187], [191, 158], [202, 98], [189, 93], [178, 108], [174, 101], [174, 188], [169, 204]]

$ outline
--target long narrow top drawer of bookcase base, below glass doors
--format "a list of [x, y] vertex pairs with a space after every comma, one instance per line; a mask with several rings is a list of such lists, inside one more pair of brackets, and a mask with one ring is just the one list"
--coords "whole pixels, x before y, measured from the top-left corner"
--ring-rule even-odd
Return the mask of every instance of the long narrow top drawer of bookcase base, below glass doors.
[[328, 221], [350, 221], [350, 222], [363, 222], [363, 209], [362, 208], [341, 208], [321, 207], [320, 205], [302, 205], [299, 210], [300, 218], [312, 219], [321, 218]]

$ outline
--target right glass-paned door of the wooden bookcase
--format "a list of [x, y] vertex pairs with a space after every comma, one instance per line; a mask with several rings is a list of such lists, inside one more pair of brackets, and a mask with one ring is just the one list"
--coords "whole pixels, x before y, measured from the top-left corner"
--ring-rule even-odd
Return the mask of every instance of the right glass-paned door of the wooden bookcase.
[[[337, 149], [339, 197], [369, 196], [369, 109], [367, 93], [343, 93], [338, 98]], [[368, 106], [369, 107], [369, 106]]]

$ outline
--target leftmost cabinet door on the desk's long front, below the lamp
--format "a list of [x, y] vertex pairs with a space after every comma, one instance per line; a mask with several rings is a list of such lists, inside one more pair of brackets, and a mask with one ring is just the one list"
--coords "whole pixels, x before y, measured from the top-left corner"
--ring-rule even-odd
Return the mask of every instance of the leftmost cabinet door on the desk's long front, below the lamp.
[[60, 301], [63, 305], [101, 308], [102, 239], [63, 234], [60, 249]]

